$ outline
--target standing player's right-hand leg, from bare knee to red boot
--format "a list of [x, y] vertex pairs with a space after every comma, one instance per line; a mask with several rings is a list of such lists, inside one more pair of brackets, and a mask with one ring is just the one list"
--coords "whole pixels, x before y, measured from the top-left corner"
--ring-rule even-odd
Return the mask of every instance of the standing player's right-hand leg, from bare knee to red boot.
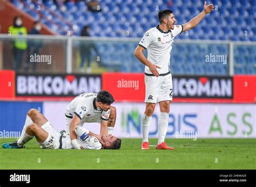
[[169, 124], [169, 112], [170, 112], [170, 101], [165, 100], [163, 102], [159, 102], [160, 106], [160, 116], [158, 120], [158, 143], [156, 149], [169, 149], [173, 150], [173, 147], [169, 147], [164, 142], [167, 128]]

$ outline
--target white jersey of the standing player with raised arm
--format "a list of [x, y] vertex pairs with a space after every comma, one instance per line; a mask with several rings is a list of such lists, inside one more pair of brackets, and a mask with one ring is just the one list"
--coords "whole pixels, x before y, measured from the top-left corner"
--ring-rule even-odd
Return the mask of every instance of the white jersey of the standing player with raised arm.
[[[147, 49], [147, 60], [159, 66], [159, 74], [166, 74], [170, 71], [170, 59], [174, 37], [181, 34], [182, 25], [174, 25], [173, 30], [162, 31], [157, 27], [150, 28], [139, 42], [139, 46]], [[145, 73], [152, 74], [149, 67], [145, 66]]]

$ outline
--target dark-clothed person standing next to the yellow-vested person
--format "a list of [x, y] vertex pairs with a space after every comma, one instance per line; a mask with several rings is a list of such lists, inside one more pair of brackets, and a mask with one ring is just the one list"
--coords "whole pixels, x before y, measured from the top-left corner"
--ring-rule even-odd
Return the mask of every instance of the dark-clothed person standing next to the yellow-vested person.
[[[40, 21], [35, 21], [33, 27], [29, 31], [29, 34], [41, 34], [41, 24]], [[28, 40], [28, 58], [25, 64], [25, 70], [28, 72], [30, 64], [32, 64], [33, 71], [36, 71], [37, 63], [30, 63], [30, 55], [38, 54], [43, 46], [41, 39], [29, 39]]]

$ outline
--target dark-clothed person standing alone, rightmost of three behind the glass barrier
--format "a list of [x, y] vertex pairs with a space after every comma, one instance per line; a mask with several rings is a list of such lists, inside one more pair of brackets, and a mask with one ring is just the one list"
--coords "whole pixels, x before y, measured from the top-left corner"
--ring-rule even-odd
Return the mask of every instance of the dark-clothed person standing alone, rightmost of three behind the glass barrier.
[[[81, 36], [90, 37], [90, 26], [84, 26], [81, 32]], [[79, 71], [81, 73], [84, 72], [84, 63], [86, 58], [87, 58], [86, 73], [91, 73], [91, 60], [92, 60], [91, 49], [94, 49], [95, 52], [98, 53], [97, 48], [95, 47], [92, 41], [81, 41], [80, 43], [81, 62], [79, 67]]]

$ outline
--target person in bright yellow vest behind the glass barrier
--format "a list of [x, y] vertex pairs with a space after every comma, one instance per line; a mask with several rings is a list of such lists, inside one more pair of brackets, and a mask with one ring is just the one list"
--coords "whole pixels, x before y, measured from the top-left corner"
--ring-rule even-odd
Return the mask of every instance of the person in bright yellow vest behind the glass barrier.
[[[10, 35], [26, 35], [26, 28], [23, 26], [22, 17], [16, 16], [14, 18], [14, 25], [8, 28]], [[14, 54], [13, 66], [15, 70], [21, 69], [24, 53], [26, 52], [26, 39], [15, 38], [12, 42], [12, 52]]]

